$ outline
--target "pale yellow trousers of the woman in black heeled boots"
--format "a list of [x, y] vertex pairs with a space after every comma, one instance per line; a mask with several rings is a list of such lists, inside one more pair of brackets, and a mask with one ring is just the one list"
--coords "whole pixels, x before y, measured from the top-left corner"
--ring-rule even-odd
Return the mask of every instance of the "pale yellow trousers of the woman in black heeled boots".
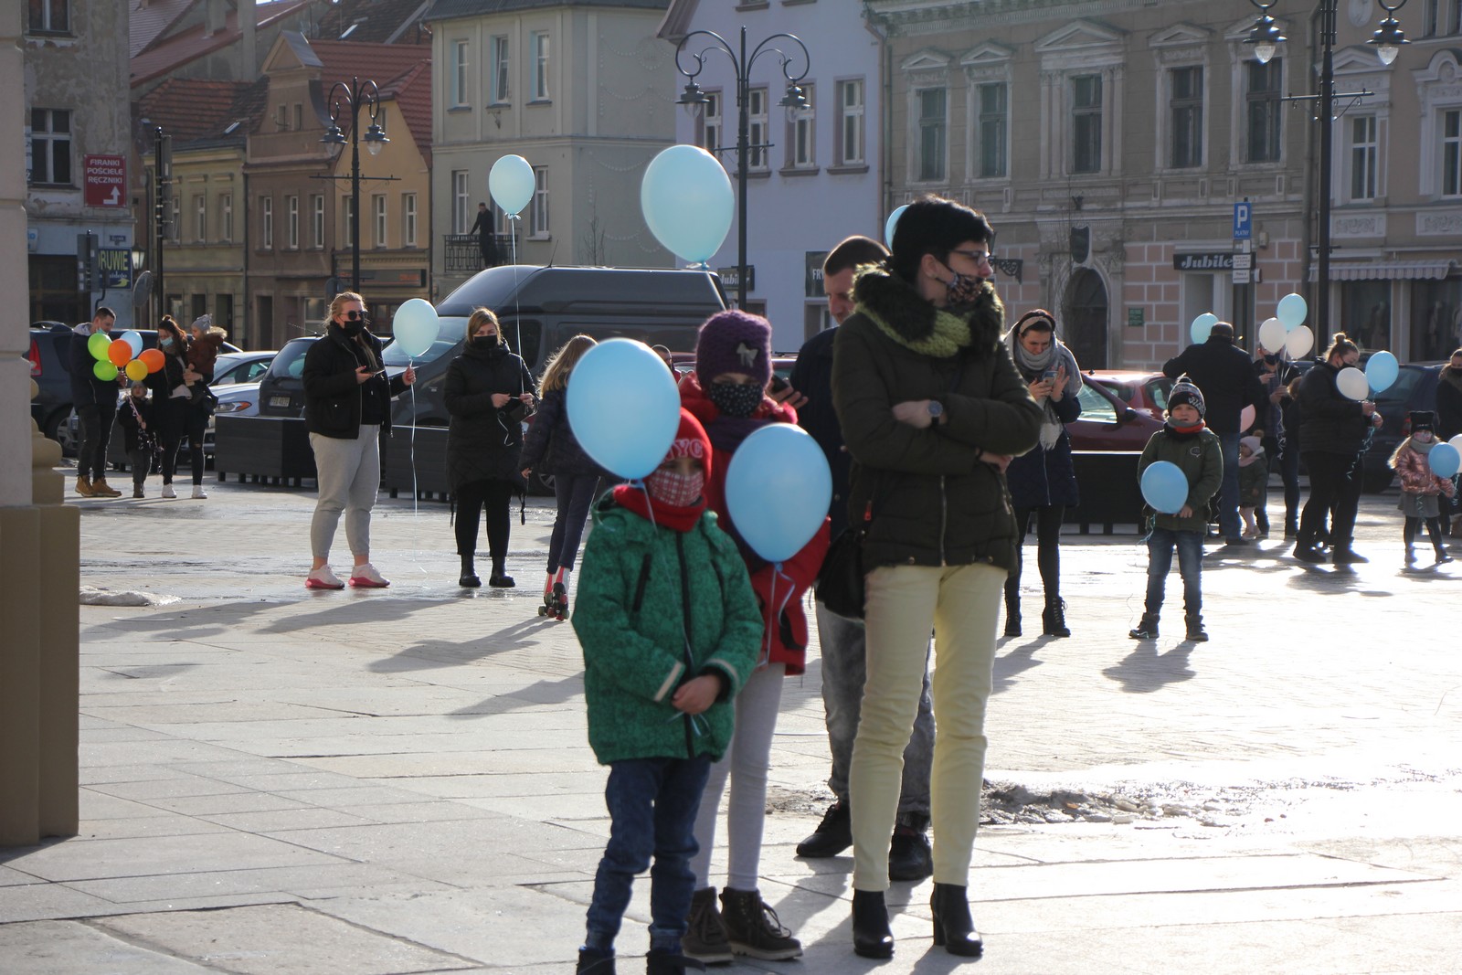
[[985, 703], [1006, 570], [994, 566], [885, 566], [868, 573], [868, 680], [852, 746], [857, 890], [887, 890], [889, 838], [899, 807], [904, 747], [914, 731], [934, 629], [934, 769], [930, 819], [934, 881], [963, 887], [980, 824]]

